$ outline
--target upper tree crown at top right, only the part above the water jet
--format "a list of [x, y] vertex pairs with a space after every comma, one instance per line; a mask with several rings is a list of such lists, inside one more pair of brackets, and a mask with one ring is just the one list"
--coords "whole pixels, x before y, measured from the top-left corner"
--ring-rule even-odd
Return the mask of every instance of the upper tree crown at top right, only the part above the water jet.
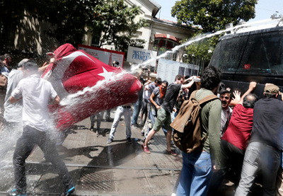
[[180, 0], [176, 1], [171, 14], [178, 23], [197, 25], [204, 33], [225, 28], [228, 23], [255, 18], [258, 0]]

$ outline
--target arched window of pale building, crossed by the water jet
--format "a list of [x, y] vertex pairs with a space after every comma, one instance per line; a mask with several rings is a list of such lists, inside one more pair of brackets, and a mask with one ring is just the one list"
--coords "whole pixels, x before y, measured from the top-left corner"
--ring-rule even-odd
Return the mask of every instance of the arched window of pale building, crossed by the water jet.
[[[157, 52], [157, 55], [161, 55], [167, 50], [171, 50], [176, 45], [179, 45], [178, 42], [175, 42], [173, 40], [169, 40], [167, 38], [155, 38], [154, 39], [154, 46], [153, 50]], [[173, 60], [175, 61], [177, 59], [177, 53], [175, 54], [168, 54], [165, 59]]]

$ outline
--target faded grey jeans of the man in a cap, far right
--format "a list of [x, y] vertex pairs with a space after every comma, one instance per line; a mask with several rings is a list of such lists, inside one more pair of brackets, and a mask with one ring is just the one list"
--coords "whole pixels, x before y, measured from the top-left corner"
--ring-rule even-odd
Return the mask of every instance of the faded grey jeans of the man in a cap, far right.
[[248, 195], [255, 175], [262, 168], [263, 195], [275, 195], [275, 181], [280, 164], [281, 152], [261, 142], [251, 142], [243, 160], [241, 180], [235, 196]]

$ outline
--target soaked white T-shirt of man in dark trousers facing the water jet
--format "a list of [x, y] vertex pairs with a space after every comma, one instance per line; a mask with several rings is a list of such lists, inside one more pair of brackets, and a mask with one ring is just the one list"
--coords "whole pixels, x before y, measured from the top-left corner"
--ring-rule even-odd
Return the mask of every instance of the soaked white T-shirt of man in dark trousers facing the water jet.
[[23, 126], [30, 126], [39, 131], [47, 131], [51, 125], [48, 111], [49, 101], [56, 98], [52, 84], [40, 75], [33, 74], [22, 79], [12, 92], [13, 98], [23, 97]]

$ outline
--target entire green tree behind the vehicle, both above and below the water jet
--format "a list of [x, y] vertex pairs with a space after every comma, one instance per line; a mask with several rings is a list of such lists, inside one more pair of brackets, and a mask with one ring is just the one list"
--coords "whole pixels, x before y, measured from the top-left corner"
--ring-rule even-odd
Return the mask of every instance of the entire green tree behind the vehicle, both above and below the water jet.
[[[180, 0], [171, 10], [178, 23], [198, 27], [196, 35], [225, 29], [225, 25], [238, 25], [241, 21], [255, 18], [258, 0]], [[196, 64], [196, 59], [209, 63], [219, 36], [195, 42], [185, 48], [187, 62]], [[192, 38], [193, 39], [193, 38]]]

